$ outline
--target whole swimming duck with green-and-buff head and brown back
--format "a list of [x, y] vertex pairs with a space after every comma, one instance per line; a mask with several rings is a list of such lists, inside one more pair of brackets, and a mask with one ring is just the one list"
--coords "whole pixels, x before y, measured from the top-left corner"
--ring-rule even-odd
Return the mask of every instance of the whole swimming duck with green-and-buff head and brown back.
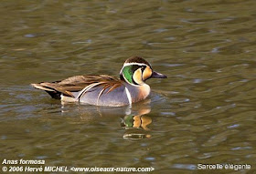
[[149, 78], [166, 78], [166, 76], [155, 72], [143, 57], [132, 56], [125, 60], [120, 78], [108, 75], [84, 75], [35, 83], [31, 86], [44, 90], [52, 98], [63, 102], [121, 107], [131, 106], [150, 95], [151, 89], [145, 83]]

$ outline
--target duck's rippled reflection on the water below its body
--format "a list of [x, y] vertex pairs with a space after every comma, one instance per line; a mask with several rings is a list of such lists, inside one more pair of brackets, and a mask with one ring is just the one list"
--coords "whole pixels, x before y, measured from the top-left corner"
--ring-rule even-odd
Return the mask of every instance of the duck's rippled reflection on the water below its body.
[[130, 107], [96, 107], [74, 105], [62, 102], [61, 112], [65, 115], [77, 115], [79, 112], [80, 119], [74, 120], [72, 123], [80, 124], [81, 122], [109, 122], [112, 124], [112, 119], [121, 118], [121, 126], [125, 129], [123, 138], [125, 139], [143, 139], [151, 138], [150, 129], [148, 126], [152, 123], [152, 118], [146, 116], [150, 113], [151, 100], [145, 99], [142, 102]]

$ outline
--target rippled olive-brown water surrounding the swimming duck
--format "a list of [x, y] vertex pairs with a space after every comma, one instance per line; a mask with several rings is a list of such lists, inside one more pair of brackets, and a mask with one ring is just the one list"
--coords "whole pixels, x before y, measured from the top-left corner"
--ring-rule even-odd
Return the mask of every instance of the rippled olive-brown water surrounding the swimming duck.
[[[1, 1], [1, 163], [256, 172], [255, 7], [254, 0]], [[29, 86], [118, 77], [135, 55], [168, 78], [150, 79], [153, 94], [133, 107], [61, 105]], [[200, 170], [200, 163], [251, 169]]]

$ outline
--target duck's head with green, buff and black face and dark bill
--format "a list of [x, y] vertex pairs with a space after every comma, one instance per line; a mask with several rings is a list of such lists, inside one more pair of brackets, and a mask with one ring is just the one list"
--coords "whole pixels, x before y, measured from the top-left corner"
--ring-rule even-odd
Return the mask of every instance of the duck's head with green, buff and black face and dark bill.
[[155, 72], [151, 65], [140, 56], [128, 58], [120, 71], [120, 79], [135, 86], [143, 85], [149, 78], [166, 78], [166, 76]]

